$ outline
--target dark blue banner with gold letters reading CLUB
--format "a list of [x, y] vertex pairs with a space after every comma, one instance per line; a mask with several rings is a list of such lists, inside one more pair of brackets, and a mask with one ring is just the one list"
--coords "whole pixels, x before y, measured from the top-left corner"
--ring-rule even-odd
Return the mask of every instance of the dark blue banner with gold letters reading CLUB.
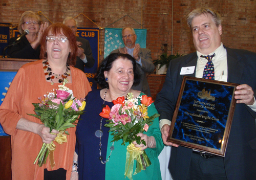
[[95, 82], [94, 77], [97, 73], [98, 64], [99, 64], [99, 29], [98, 28], [77, 28], [76, 36], [87, 39], [90, 42], [95, 63], [93, 68], [90, 68], [90, 69], [84, 68], [84, 72], [86, 73], [86, 76], [90, 82], [92, 89], [97, 89], [97, 83]]

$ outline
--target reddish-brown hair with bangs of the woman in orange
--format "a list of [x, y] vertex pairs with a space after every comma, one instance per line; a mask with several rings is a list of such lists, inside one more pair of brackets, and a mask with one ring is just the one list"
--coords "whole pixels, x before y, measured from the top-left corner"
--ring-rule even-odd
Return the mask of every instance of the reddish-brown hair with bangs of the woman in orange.
[[77, 44], [76, 44], [76, 36], [72, 32], [72, 30], [67, 27], [66, 25], [63, 25], [61, 23], [55, 23], [49, 26], [44, 34], [42, 34], [41, 38], [41, 53], [40, 53], [40, 58], [41, 59], [47, 59], [47, 53], [46, 53], [46, 36], [49, 35], [49, 32], [51, 31], [55, 36], [57, 34], [60, 34], [62, 30], [63, 35], [65, 35], [68, 38], [68, 42], [70, 45], [70, 50], [71, 52], [69, 53], [68, 56], [68, 65], [75, 65], [76, 64], [76, 55], [77, 55]]

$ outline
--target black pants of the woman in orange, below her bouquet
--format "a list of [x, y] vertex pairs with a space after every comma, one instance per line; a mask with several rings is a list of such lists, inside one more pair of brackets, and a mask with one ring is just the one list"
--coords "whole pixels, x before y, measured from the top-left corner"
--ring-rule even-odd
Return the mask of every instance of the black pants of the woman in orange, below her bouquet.
[[54, 171], [44, 169], [44, 180], [66, 180], [67, 170], [59, 168]]

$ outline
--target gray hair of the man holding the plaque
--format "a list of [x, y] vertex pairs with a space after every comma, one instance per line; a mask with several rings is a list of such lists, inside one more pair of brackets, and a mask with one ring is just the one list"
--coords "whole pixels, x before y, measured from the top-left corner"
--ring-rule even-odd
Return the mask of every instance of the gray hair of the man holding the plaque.
[[217, 11], [215, 11], [211, 8], [198, 8], [198, 9], [193, 10], [192, 12], [190, 12], [187, 15], [187, 25], [190, 27], [190, 29], [191, 29], [191, 24], [192, 24], [193, 18], [200, 16], [201, 14], [204, 14], [204, 15], [211, 14], [216, 26], [219, 27], [219, 25], [221, 25], [222, 18], [221, 18], [221, 15]]

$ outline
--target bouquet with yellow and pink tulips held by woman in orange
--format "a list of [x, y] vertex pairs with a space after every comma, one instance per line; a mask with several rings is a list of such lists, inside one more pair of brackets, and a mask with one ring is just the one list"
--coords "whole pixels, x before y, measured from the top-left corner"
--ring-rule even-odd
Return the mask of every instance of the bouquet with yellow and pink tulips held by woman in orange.
[[[53, 92], [44, 95], [44, 98], [39, 97], [40, 103], [32, 103], [35, 107], [35, 115], [29, 114], [33, 117], [40, 119], [40, 121], [52, 129], [59, 131], [54, 141], [58, 144], [67, 142], [67, 135], [69, 135], [66, 129], [75, 127], [75, 121], [78, 116], [83, 114], [83, 109], [86, 106], [84, 99], [78, 100], [73, 97], [72, 90], [65, 86], [68, 81], [65, 79], [62, 85], [59, 85], [59, 89], [53, 89]], [[64, 134], [66, 133], [66, 134]], [[39, 151], [34, 164], [38, 160], [38, 165], [41, 167], [46, 163], [49, 155], [51, 168], [55, 166], [53, 151], [55, 145], [53, 142], [50, 144], [43, 143], [41, 150]]]

